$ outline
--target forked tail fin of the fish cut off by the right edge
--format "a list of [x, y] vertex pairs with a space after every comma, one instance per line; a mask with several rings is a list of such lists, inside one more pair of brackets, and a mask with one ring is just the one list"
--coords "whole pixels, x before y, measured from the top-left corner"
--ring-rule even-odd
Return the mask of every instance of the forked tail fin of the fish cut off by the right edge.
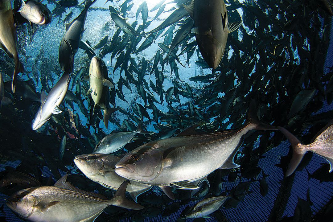
[[286, 171], [286, 176], [290, 176], [296, 170], [307, 150], [304, 149], [303, 144], [291, 132], [280, 126], [277, 128], [283, 133], [285, 137], [287, 137], [291, 143], [292, 157]]

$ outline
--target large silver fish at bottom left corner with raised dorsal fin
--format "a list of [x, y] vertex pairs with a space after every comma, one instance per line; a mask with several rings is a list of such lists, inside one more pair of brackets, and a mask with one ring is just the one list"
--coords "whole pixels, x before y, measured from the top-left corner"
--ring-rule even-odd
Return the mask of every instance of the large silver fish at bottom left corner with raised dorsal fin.
[[54, 186], [32, 187], [20, 190], [7, 200], [7, 206], [25, 220], [35, 222], [92, 222], [111, 205], [143, 209], [143, 206], [125, 198], [125, 181], [111, 200], [80, 190], [66, 182], [68, 174]]

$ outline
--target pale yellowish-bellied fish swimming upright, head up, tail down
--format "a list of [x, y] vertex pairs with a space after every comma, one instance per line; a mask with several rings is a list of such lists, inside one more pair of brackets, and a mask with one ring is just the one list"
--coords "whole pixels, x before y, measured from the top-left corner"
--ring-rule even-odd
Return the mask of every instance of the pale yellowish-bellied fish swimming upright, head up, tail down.
[[98, 107], [103, 110], [103, 121], [106, 128], [109, 125], [109, 118], [111, 113], [117, 111], [117, 108], [108, 108], [106, 105], [106, 97], [109, 92], [109, 88], [114, 89], [115, 85], [110, 81], [108, 77], [108, 70], [103, 59], [98, 56], [94, 56], [91, 59], [89, 67], [89, 84], [90, 88], [87, 92], [91, 94], [94, 101], [93, 115], [95, 109]]

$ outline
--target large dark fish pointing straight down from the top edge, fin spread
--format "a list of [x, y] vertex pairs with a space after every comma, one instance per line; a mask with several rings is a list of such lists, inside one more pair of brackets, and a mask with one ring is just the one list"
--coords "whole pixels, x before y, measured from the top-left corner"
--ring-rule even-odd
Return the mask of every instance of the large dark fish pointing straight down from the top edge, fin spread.
[[237, 30], [242, 23], [228, 23], [224, 0], [192, 0], [183, 6], [194, 21], [192, 31], [203, 59], [210, 68], [216, 69], [221, 63], [228, 33]]

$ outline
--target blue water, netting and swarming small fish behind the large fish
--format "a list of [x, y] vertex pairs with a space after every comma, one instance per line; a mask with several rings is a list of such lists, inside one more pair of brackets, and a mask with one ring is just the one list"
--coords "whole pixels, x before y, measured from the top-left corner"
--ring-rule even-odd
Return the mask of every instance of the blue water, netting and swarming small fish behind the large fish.
[[[117, 85], [110, 93], [110, 103], [120, 110], [111, 114], [108, 128], [103, 123], [101, 111], [90, 116], [91, 99], [86, 96], [89, 84], [83, 80], [89, 75], [90, 59], [79, 49], [74, 57], [73, 73], [81, 72], [81, 76], [75, 82], [73, 75], [69, 86], [75, 99], [65, 98], [60, 106], [64, 110], [62, 113], [53, 115], [38, 130], [31, 129], [40, 107], [42, 89], [48, 93], [63, 73], [58, 62], [59, 45], [66, 32], [65, 24], [83, 10], [82, 2], [66, 8], [58, 1], [45, 0], [42, 3], [52, 12], [50, 24], [34, 27], [33, 32], [28, 24], [17, 26], [17, 49], [25, 68], [18, 79], [26, 81], [33, 92], [28, 96], [23, 95], [24, 92], [13, 94], [5, 84], [5, 96], [12, 103], [3, 105], [0, 111], [0, 171], [12, 167], [33, 176], [43, 185], [70, 173], [68, 180], [73, 185], [110, 197], [112, 191], [86, 178], [73, 159], [76, 155], [91, 153], [98, 141], [114, 130], [136, 130], [139, 124], [136, 120], [142, 119], [146, 129], [155, 133], [178, 128], [177, 134], [198, 123], [205, 132], [235, 129], [244, 123], [249, 102], [254, 99], [257, 107], [260, 104], [257, 114], [261, 121], [284, 126], [308, 144], [333, 118], [333, 30], [331, 15], [320, 4], [322, 1], [230, 0], [226, 2], [229, 21], [241, 20], [243, 24], [228, 35], [221, 66], [212, 72], [193, 44], [195, 36], [191, 33], [177, 46], [177, 55], [186, 47], [192, 47], [177, 56], [184, 66], [175, 59], [163, 67], [159, 63], [157, 76], [152, 71], [157, 52], [160, 50], [163, 59], [167, 54], [158, 43], [170, 46], [175, 31], [188, 16], [162, 29], [164, 32], [161, 31], [143, 51], [138, 52], [138, 49], [145, 38], [129, 55], [126, 52], [133, 50], [129, 47], [132, 42], [121, 51], [116, 51], [115, 47], [110, 51], [118, 28], [110, 16], [109, 6], [120, 10], [124, 2], [104, 4], [97, 0], [88, 10], [82, 37], [103, 58], [110, 79]], [[146, 2], [151, 10], [159, 3], [155, 0], [127, 2], [133, 6], [124, 17], [130, 24], [137, 21], [138, 26], [144, 22], [141, 12], [137, 13], [141, 5]], [[166, 12], [157, 18], [157, 10], [148, 12], [147, 21], [152, 22], [144, 32], [158, 27], [186, 2], [165, 1]], [[18, 4], [15, 2], [14, 6]], [[122, 52], [131, 59], [121, 57]], [[115, 68], [119, 60], [122, 60], [121, 64]], [[13, 70], [12, 59], [0, 50], [4, 82], [11, 81]], [[142, 70], [144, 93], [134, 84]], [[161, 73], [162, 84], [158, 76]], [[119, 84], [119, 80], [126, 83]], [[164, 90], [162, 96], [158, 93], [161, 91], [156, 90], [157, 86]], [[158, 116], [153, 115], [152, 104], [156, 106]], [[67, 142], [62, 160], [59, 160], [64, 135]], [[149, 138], [153, 137], [152, 133]], [[147, 139], [148, 136], [137, 135], [134, 142], [115, 154], [131, 151]], [[309, 152], [297, 171], [285, 177], [291, 153], [290, 142], [279, 131], [255, 131], [244, 139], [236, 153], [235, 162], [241, 167], [215, 170], [207, 177], [210, 187], [204, 184], [196, 197], [191, 198], [188, 190], [177, 189], [173, 190], [176, 199], [171, 200], [154, 187], [138, 197], [138, 203], [145, 206], [144, 209], [111, 206], [96, 221], [185, 221], [179, 219], [185, 207], [193, 206], [203, 198], [228, 194], [236, 196], [238, 201], [227, 202], [210, 218], [186, 221], [333, 221], [333, 173], [328, 172], [328, 162]], [[2, 221], [22, 221], [4, 204], [5, 198], [8, 196], [0, 193]]]

